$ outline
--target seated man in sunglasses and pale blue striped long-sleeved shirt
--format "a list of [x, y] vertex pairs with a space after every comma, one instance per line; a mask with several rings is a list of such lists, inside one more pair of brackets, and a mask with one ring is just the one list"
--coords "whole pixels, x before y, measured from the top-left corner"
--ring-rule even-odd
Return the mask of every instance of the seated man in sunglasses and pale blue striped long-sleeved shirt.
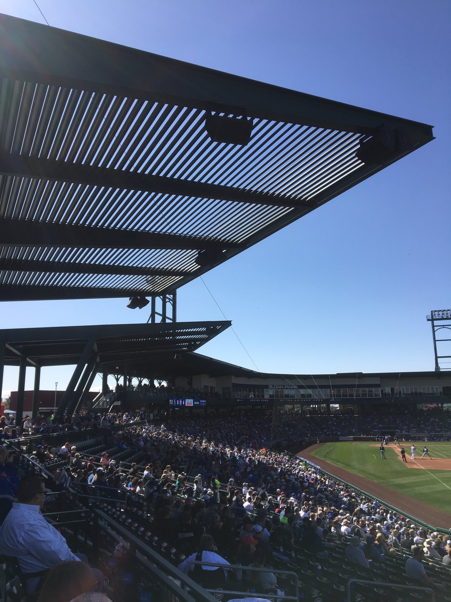
[[[52, 566], [67, 560], [87, 562], [82, 554], [73, 554], [63, 535], [45, 520], [41, 514], [45, 500], [44, 479], [25, 477], [20, 482], [17, 502], [13, 503], [0, 530], [0, 550], [5, 556], [17, 558], [29, 593]], [[102, 573], [95, 572], [94, 577], [103, 582]]]

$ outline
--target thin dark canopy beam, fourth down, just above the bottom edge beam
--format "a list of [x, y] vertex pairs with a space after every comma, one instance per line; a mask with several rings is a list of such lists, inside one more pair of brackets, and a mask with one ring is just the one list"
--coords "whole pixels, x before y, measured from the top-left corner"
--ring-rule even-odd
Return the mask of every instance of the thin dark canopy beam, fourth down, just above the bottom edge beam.
[[70, 274], [106, 274], [119, 276], [174, 276], [183, 278], [195, 272], [164, 270], [140, 265], [108, 265], [69, 261], [38, 261], [33, 259], [0, 258], [0, 270], [7, 272], [55, 272]]

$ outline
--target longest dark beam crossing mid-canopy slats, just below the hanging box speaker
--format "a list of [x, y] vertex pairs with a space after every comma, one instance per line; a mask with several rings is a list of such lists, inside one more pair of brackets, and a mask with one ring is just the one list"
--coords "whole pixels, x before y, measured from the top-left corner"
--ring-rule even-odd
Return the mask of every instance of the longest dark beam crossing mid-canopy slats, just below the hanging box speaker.
[[107, 189], [140, 190], [197, 199], [231, 200], [237, 203], [251, 203], [252, 205], [311, 206], [310, 203], [305, 204], [302, 199], [296, 197], [248, 191], [243, 188], [233, 188], [232, 186], [219, 184], [204, 184], [181, 178], [126, 172], [111, 167], [91, 167], [83, 163], [69, 164], [66, 161], [31, 158], [10, 153], [0, 154], [0, 173], [8, 176], [19, 176], [20, 178], [46, 179], [51, 182], [101, 186]]

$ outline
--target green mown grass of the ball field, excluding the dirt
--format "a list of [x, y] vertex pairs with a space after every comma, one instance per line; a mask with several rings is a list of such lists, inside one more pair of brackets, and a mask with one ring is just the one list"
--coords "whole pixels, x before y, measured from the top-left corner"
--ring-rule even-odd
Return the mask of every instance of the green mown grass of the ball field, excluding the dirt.
[[[385, 460], [381, 459], [379, 448], [371, 445], [374, 445], [374, 442], [325, 443], [311, 452], [311, 455], [450, 512], [451, 523], [451, 470], [428, 468], [428, 473], [420, 468], [408, 468], [397, 458], [392, 444], [385, 445]], [[423, 445], [420, 441], [415, 443], [416, 460], [419, 464], [422, 456], [420, 449]], [[451, 458], [451, 443], [428, 441], [426, 445], [432, 458]], [[404, 448], [408, 462], [411, 462], [410, 444], [406, 444]], [[397, 447], [398, 451], [399, 449]]]

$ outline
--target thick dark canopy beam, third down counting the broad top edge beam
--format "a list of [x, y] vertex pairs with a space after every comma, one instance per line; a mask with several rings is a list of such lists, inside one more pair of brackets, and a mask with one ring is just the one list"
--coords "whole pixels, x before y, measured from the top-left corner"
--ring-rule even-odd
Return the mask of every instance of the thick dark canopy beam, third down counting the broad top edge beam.
[[[1, 161], [1, 160], [0, 160]], [[1, 165], [1, 163], [0, 163]], [[0, 167], [0, 170], [2, 167]], [[37, 220], [0, 220], [2, 246], [70, 247], [71, 249], [233, 249], [241, 244], [201, 236], [96, 228]]]

